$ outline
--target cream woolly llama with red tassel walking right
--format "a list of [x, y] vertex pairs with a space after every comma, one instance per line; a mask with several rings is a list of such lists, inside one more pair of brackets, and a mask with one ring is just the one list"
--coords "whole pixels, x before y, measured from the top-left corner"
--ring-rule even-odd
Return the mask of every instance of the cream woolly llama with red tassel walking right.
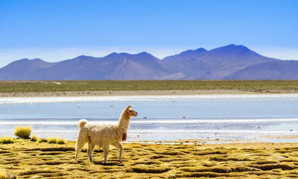
[[120, 150], [119, 162], [122, 163], [122, 152], [124, 148], [120, 142], [126, 141], [126, 133], [131, 117], [138, 116], [138, 112], [134, 111], [132, 107], [133, 106], [130, 105], [123, 110], [118, 124], [88, 124], [86, 119], [79, 120], [79, 133], [76, 140], [74, 160], [77, 160], [78, 153], [81, 151], [84, 144], [88, 142], [87, 154], [90, 162], [93, 162], [92, 152], [95, 145], [98, 145], [99, 149], [102, 147], [104, 163], [107, 163], [109, 145], [114, 145]]

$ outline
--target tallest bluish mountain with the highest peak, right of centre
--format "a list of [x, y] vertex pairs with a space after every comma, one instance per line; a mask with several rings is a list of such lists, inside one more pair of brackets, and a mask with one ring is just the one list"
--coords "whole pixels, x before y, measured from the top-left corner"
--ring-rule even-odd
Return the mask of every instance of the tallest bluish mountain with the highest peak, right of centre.
[[162, 61], [169, 70], [182, 72], [185, 79], [221, 79], [250, 65], [273, 60], [277, 59], [263, 57], [242, 45], [231, 44], [197, 53], [185, 51]]

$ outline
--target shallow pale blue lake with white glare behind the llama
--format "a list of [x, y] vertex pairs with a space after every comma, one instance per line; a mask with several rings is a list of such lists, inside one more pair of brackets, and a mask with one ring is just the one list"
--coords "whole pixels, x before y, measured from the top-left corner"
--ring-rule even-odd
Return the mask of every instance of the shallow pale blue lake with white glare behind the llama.
[[0, 98], [0, 135], [13, 136], [15, 126], [30, 125], [38, 137], [75, 140], [79, 119], [117, 123], [122, 110], [131, 104], [139, 116], [131, 119], [129, 142], [297, 140], [264, 138], [298, 135], [297, 94]]

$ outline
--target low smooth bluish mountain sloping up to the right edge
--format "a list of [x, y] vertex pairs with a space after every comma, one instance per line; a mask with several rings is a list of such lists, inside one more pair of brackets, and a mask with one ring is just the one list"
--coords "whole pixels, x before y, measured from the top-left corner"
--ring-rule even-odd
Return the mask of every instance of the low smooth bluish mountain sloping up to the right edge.
[[298, 61], [278, 60], [255, 64], [224, 79], [298, 79]]

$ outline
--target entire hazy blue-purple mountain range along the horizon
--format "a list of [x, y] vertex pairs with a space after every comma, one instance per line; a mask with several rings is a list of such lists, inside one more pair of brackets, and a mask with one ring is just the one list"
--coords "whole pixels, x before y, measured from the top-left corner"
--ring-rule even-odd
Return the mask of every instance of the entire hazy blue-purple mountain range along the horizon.
[[298, 79], [298, 61], [261, 56], [242, 45], [199, 48], [159, 60], [149, 53], [112, 53], [46, 62], [16, 60], [0, 80]]

